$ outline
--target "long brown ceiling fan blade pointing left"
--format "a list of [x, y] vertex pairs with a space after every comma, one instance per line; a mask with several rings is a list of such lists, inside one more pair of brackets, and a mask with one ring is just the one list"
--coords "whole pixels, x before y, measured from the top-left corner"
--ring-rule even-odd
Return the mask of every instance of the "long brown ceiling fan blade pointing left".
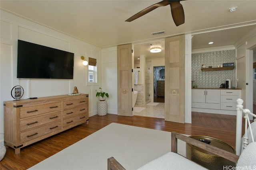
[[156, 3], [156, 4], [152, 5], [152, 6], [149, 6], [148, 8], [145, 8], [144, 10], [138, 12], [137, 14], [135, 14], [134, 16], [128, 18], [125, 21], [127, 21], [127, 22], [133, 21], [133, 20], [135, 20], [137, 18], [140, 18], [141, 16], [144, 16], [148, 12], [150, 12], [150, 11], [152, 11], [152, 10], [158, 8], [158, 7], [166, 6], [166, 5], [170, 4], [171, 2], [172, 2], [172, 0], [162, 0], [161, 2], [158, 2], [158, 3]]

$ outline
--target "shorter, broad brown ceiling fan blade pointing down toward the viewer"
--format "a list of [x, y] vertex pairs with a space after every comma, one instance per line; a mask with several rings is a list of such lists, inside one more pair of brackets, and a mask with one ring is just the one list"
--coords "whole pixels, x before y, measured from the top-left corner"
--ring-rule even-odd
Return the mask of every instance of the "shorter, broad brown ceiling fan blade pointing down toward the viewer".
[[185, 15], [184, 10], [182, 7], [182, 4], [180, 4], [180, 1], [173, 2], [170, 4], [171, 6], [171, 12], [172, 12], [172, 18], [176, 26], [179, 26], [185, 22]]

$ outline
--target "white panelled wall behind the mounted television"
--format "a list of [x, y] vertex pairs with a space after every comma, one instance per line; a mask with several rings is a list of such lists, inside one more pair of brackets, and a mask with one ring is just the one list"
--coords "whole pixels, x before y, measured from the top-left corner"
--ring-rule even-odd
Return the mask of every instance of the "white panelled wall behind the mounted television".
[[[29, 97], [56, 96], [72, 93], [74, 86], [78, 91], [89, 94], [89, 117], [96, 114], [95, 89], [98, 84], [86, 84], [87, 67], [82, 65], [80, 56], [96, 58], [100, 73], [102, 49], [74, 37], [53, 31], [0, 11], [0, 143], [4, 141], [3, 102], [13, 100], [10, 93], [14, 86], [24, 88], [22, 99]], [[74, 53], [74, 78], [65, 79], [24, 79], [16, 78], [18, 39]], [[98, 74], [98, 80], [101, 75]]]

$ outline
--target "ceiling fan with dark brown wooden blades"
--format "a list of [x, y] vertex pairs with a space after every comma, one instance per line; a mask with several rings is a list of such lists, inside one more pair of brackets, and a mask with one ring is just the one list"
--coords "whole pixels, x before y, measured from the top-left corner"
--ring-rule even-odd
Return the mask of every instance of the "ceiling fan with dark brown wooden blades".
[[136, 20], [137, 18], [144, 16], [148, 12], [158, 7], [170, 5], [173, 21], [176, 26], [179, 26], [185, 22], [184, 10], [183, 10], [182, 4], [180, 4], [180, 1], [181, 0], [162, 0], [161, 2], [158, 2], [152, 6], [149, 6], [148, 8], [145, 8], [144, 10], [138, 12], [137, 14], [128, 18], [125, 21], [130, 22], [130, 21]]

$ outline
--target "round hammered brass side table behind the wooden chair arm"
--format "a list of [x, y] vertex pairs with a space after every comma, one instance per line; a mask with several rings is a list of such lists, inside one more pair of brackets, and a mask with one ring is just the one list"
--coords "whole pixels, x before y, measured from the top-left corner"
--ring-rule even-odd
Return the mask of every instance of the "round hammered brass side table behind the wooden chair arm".
[[[190, 137], [193, 139], [207, 139], [211, 141], [209, 145], [218, 147], [220, 149], [223, 149], [235, 154], [235, 150], [230, 145], [218, 139], [207, 137], [207, 136], [198, 136], [198, 135], [190, 136]], [[192, 146], [188, 143], [186, 143], [186, 158], [210, 170], [223, 170], [224, 167], [236, 166], [236, 164], [230, 160], [211, 154], [205, 150]]]

